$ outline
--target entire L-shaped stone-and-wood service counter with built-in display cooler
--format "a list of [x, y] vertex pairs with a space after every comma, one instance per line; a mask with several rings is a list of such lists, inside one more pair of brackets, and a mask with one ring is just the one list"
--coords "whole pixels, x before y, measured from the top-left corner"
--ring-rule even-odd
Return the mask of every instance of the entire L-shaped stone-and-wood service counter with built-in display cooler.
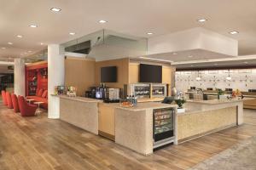
[[60, 99], [60, 119], [84, 130], [113, 140], [140, 154], [154, 148], [178, 144], [224, 128], [241, 125], [243, 100], [188, 100], [186, 111], [177, 105], [143, 102], [134, 107], [83, 97]]

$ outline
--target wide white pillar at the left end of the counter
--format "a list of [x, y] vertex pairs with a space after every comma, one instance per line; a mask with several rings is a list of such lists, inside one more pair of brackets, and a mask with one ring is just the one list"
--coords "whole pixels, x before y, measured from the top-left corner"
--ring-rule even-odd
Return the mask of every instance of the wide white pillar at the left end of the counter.
[[64, 85], [64, 50], [59, 44], [48, 46], [48, 118], [60, 118], [60, 99], [54, 94], [55, 86]]

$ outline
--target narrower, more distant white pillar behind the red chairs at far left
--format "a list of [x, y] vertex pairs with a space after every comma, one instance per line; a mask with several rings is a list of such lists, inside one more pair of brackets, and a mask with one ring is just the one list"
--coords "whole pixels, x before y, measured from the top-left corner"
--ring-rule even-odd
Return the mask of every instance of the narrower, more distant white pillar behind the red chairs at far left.
[[25, 96], [25, 60], [15, 59], [15, 94]]

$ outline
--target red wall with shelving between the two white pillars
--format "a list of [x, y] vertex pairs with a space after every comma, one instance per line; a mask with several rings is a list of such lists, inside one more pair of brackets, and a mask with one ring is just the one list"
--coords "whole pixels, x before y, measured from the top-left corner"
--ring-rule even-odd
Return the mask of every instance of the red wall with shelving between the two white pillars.
[[26, 96], [35, 95], [37, 89], [48, 88], [47, 62], [26, 65]]

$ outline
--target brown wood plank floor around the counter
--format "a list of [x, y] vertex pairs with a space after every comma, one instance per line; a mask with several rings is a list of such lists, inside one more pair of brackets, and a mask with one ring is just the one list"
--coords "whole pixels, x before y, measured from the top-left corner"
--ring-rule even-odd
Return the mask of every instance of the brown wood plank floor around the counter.
[[21, 117], [0, 105], [0, 170], [166, 170], [187, 169], [256, 135], [256, 111], [245, 122], [200, 139], [142, 156], [66, 122]]

